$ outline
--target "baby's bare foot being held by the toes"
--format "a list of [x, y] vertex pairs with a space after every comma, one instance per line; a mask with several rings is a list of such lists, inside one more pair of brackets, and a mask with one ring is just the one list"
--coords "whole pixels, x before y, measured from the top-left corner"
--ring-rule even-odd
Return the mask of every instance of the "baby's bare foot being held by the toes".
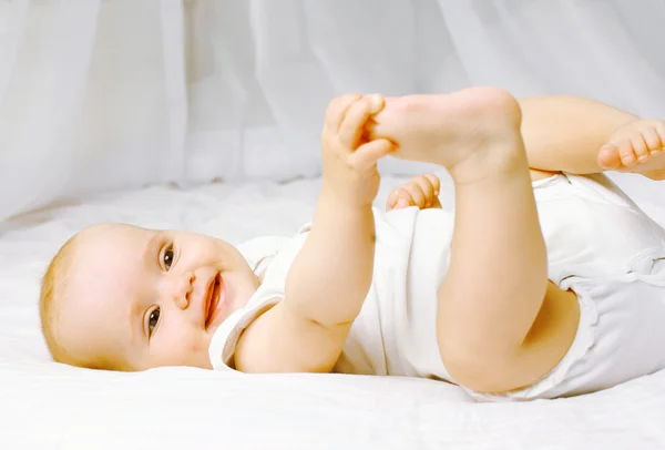
[[393, 156], [443, 165], [460, 182], [466, 181], [460, 176], [494, 170], [507, 152], [523, 152], [520, 122], [520, 106], [508, 92], [472, 88], [446, 95], [386, 99], [368, 133], [395, 142]]

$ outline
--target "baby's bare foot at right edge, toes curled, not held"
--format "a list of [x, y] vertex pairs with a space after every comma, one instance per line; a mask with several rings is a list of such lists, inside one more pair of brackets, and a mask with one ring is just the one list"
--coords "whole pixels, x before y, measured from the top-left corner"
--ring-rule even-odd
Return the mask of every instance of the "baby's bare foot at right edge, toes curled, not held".
[[636, 120], [618, 127], [598, 152], [605, 170], [665, 180], [665, 121]]

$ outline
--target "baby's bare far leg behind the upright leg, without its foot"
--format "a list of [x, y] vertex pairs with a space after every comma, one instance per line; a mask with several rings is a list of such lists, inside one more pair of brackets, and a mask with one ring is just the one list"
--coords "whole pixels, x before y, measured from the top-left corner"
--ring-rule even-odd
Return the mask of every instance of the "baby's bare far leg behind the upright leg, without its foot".
[[603, 172], [601, 147], [618, 126], [638, 119], [591, 99], [545, 95], [523, 99], [522, 136], [529, 166], [548, 172]]

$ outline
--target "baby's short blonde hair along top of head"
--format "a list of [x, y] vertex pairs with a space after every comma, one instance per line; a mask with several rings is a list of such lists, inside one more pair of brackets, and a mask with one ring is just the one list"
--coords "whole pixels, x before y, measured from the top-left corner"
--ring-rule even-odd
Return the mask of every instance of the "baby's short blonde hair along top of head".
[[58, 315], [60, 304], [66, 295], [66, 284], [71, 259], [73, 258], [75, 237], [71, 237], [58, 250], [41, 282], [41, 292], [39, 296], [39, 316], [41, 319], [42, 334], [49, 347], [49, 351], [57, 362], [64, 362], [72, 366], [85, 366], [79, 361], [58, 341]]

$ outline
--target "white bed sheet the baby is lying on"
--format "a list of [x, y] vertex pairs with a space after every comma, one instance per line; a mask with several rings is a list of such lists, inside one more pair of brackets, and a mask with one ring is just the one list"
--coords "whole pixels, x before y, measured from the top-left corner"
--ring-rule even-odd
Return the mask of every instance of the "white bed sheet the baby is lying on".
[[[452, 188], [442, 175], [442, 203], [451, 206]], [[378, 205], [398, 182], [383, 180]], [[620, 182], [665, 224], [665, 183]], [[0, 448], [665, 448], [665, 371], [573, 399], [482, 405], [457, 387], [421, 379], [191, 368], [119, 374], [49, 361], [39, 331], [38, 279], [75, 231], [114, 221], [234, 243], [288, 235], [310, 219], [319, 186], [319, 180], [300, 180], [150, 187], [1, 224]]]

